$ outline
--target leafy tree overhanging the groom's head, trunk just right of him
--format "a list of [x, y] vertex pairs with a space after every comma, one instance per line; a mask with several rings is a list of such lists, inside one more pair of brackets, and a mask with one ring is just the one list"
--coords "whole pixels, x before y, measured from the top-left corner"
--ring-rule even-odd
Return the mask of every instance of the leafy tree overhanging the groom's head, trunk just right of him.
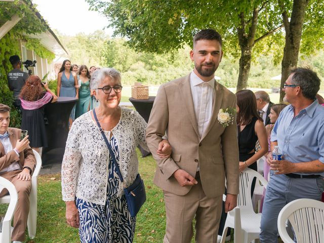
[[[128, 1], [88, 0], [92, 10], [103, 13], [115, 28], [115, 35], [125, 36], [135, 50], [155, 53], [192, 45], [200, 29], [217, 29], [225, 40], [223, 49], [240, 56], [238, 89], [247, 87], [254, 46], [278, 31], [282, 24], [278, 8], [271, 1]], [[279, 36], [279, 35], [278, 35]], [[267, 45], [280, 41], [280, 36]]]

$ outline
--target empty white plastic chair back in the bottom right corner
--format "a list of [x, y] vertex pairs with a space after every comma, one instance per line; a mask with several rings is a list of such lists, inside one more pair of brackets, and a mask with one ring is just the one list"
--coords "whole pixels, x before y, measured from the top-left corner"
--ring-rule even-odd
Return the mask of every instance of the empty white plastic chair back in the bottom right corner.
[[291, 223], [298, 243], [324, 242], [324, 203], [302, 198], [291, 201], [278, 216], [279, 235], [285, 243], [295, 242], [287, 232], [286, 221]]

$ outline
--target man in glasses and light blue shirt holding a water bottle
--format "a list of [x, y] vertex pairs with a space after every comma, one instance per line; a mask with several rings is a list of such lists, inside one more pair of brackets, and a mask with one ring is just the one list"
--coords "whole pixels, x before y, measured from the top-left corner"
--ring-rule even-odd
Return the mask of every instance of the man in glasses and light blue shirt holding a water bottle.
[[320, 200], [324, 190], [324, 107], [316, 93], [320, 80], [307, 68], [290, 72], [284, 91], [291, 103], [281, 111], [271, 133], [271, 150], [278, 145], [283, 160], [268, 155], [270, 180], [261, 217], [261, 242], [278, 242], [280, 210], [298, 198]]

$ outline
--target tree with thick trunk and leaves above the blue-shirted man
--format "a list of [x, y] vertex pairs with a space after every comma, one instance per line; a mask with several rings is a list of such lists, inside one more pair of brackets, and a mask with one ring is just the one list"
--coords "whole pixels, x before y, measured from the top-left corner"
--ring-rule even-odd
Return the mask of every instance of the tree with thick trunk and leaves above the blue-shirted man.
[[[308, 55], [323, 48], [322, 28], [324, 3], [320, 0], [278, 0], [282, 22], [285, 26], [286, 42], [281, 61], [281, 84], [289, 75], [289, 70], [297, 66], [299, 51]], [[285, 96], [280, 92], [280, 100]]]

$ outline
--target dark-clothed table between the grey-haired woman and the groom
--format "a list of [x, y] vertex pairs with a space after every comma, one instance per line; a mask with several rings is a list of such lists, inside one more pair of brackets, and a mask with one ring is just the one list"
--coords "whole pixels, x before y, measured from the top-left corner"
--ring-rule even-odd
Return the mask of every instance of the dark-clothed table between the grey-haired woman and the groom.
[[[130, 102], [134, 105], [137, 112], [144, 118], [146, 123], [148, 123], [148, 118], [151, 114], [151, 109], [153, 107], [155, 96], [149, 96], [147, 100], [138, 100], [134, 98], [129, 98]], [[138, 146], [139, 150], [142, 153], [142, 157], [146, 157], [150, 154], [149, 151], [145, 151], [141, 146]]]

